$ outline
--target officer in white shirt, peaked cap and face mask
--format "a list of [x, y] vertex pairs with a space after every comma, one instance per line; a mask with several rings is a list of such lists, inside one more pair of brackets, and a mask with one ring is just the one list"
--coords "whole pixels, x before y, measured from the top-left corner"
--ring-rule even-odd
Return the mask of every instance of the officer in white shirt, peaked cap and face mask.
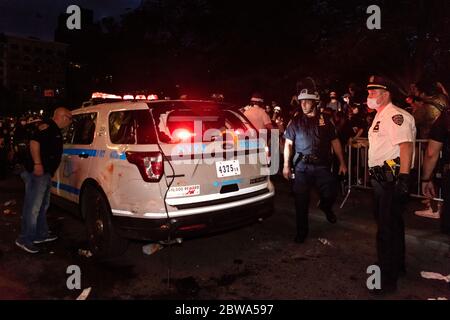
[[381, 289], [397, 289], [405, 268], [405, 228], [402, 212], [409, 193], [416, 127], [414, 118], [391, 102], [386, 79], [372, 76], [367, 85], [367, 106], [377, 111], [369, 129], [369, 173], [375, 193], [378, 265]]

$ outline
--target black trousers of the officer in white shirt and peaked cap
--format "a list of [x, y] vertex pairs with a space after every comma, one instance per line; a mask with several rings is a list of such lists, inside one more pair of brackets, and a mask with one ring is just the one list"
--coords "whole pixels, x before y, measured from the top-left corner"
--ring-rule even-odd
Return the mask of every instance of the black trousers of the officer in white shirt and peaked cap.
[[407, 198], [395, 195], [394, 182], [372, 179], [377, 223], [377, 254], [381, 283], [396, 285], [399, 271], [405, 268], [405, 225], [403, 211]]

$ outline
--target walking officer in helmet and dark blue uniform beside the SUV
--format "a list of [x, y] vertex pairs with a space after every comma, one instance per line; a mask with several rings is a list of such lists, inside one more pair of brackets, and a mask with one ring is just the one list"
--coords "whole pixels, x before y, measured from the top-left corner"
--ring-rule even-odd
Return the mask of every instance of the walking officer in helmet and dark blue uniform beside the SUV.
[[320, 101], [318, 93], [303, 89], [298, 100], [301, 112], [288, 124], [284, 134], [283, 176], [289, 179], [291, 169], [295, 170], [295, 242], [303, 243], [308, 235], [308, 209], [313, 185], [319, 191], [320, 209], [329, 222], [337, 221], [332, 210], [337, 195], [337, 179], [331, 173], [331, 148], [339, 159], [339, 174], [345, 174], [347, 167], [334, 125], [317, 110]]

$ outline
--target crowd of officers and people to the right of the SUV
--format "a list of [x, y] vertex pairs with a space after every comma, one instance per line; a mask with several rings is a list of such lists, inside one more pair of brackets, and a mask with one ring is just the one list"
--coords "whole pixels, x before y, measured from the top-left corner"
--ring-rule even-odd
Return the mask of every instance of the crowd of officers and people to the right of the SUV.
[[[444, 202], [438, 217], [442, 231], [450, 234], [450, 103], [447, 91], [437, 81], [412, 84], [403, 101], [396, 99], [397, 90], [392, 82], [380, 76], [371, 76], [366, 89], [364, 100], [358, 100], [353, 85], [342, 100], [331, 90], [323, 100], [315, 85], [305, 86], [292, 98], [291, 110], [284, 116], [275, 116], [275, 120], [281, 119], [286, 125], [283, 176], [293, 180], [297, 243], [305, 242], [308, 236], [312, 187], [317, 188], [319, 208], [330, 223], [336, 223], [332, 208], [337, 183], [332, 172], [345, 175], [348, 170], [345, 158], [354, 154], [344, 155], [344, 146], [353, 145], [358, 138], [368, 138], [365, 142], [368, 159], [363, 165], [367, 166], [374, 190], [376, 264], [382, 274], [382, 287], [372, 289], [386, 293], [397, 289], [398, 278], [406, 272], [403, 212], [415, 170], [423, 171], [421, 190], [429, 201], [437, 195], [433, 173], [441, 173]], [[257, 129], [281, 129], [280, 121], [269, 117], [274, 113], [271, 106], [264, 108], [260, 94], [254, 94], [250, 105], [244, 108], [244, 114]], [[424, 154], [417, 150], [416, 139], [422, 140]], [[333, 156], [336, 171], [331, 170]]]

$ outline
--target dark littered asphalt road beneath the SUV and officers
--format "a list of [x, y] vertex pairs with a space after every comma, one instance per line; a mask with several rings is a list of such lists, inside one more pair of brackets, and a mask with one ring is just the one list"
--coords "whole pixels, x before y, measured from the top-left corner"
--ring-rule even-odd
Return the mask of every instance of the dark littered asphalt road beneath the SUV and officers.
[[[23, 186], [10, 177], [0, 182], [0, 299], [76, 299], [82, 290], [66, 286], [70, 265], [80, 267], [81, 289], [91, 288], [88, 299], [450, 299], [446, 282], [420, 275], [450, 274], [450, 241], [438, 221], [414, 216], [417, 200], [405, 212], [407, 275], [397, 293], [374, 297], [366, 288], [366, 269], [376, 260], [370, 192], [354, 191], [336, 210], [336, 225], [311, 208], [310, 237], [299, 245], [292, 241], [288, 184], [279, 177], [274, 182], [275, 212], [262, 223], [152, 255], [142, 253], [146, 243], [132, 242], [122, 257], [98, 263], [78, 253], [86, 248], [83, 222], [58, 207], [51, 207], [49, 224], [60, 239], [41, 245], [37, 255], [17, 248]], [[17, 203], [5, 207], [12, 199]]]

